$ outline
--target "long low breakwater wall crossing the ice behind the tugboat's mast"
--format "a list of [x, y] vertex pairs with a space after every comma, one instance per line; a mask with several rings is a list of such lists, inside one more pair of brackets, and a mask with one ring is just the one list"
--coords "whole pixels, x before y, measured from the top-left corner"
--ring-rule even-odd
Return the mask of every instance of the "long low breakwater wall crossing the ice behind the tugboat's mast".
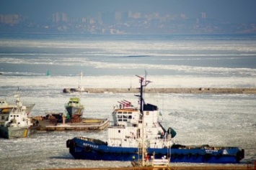
[[[64, 88], [63, 93], [138, 93], [138, 88]], [[256, 94], [256, 88], [145, 88], [145, 93]]]

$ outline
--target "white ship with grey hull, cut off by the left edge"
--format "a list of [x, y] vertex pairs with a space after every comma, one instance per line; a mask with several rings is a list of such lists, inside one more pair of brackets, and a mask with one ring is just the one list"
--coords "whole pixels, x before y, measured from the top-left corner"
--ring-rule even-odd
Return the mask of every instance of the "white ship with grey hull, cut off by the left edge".
[[[36, 132], [25, 105], [20, 100], [20, 95], [14, 95], [16, 105], [9, 105], [6, 100], [0, 100], [0, 137], [1, 138], [24, 138]], [[32, 109], [34, 105], [30, 105]]]

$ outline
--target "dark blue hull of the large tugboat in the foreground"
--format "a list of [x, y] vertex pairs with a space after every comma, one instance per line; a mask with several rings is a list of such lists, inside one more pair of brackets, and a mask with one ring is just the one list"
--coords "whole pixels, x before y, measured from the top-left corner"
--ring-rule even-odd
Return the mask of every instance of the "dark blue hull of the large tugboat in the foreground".
[[[87, 138], [88, 139], [88, 138]], [[138, 148], [112, 147], [94, 139], [73, 138], [67, 141], [69, 153], [74, 159], [90, 159], [103, 161], [131, 161], [138, 159]], [[239, 164], [244, 158], [244, 150], [237, 147], [210, 148], [148, 148], [149, 156], [155, 154], [155, 159], [163, 156], [171, 157], [171, 162], [208, 163], [208, 164]], [[139, 157], [141, 159], [141, 157]]]

